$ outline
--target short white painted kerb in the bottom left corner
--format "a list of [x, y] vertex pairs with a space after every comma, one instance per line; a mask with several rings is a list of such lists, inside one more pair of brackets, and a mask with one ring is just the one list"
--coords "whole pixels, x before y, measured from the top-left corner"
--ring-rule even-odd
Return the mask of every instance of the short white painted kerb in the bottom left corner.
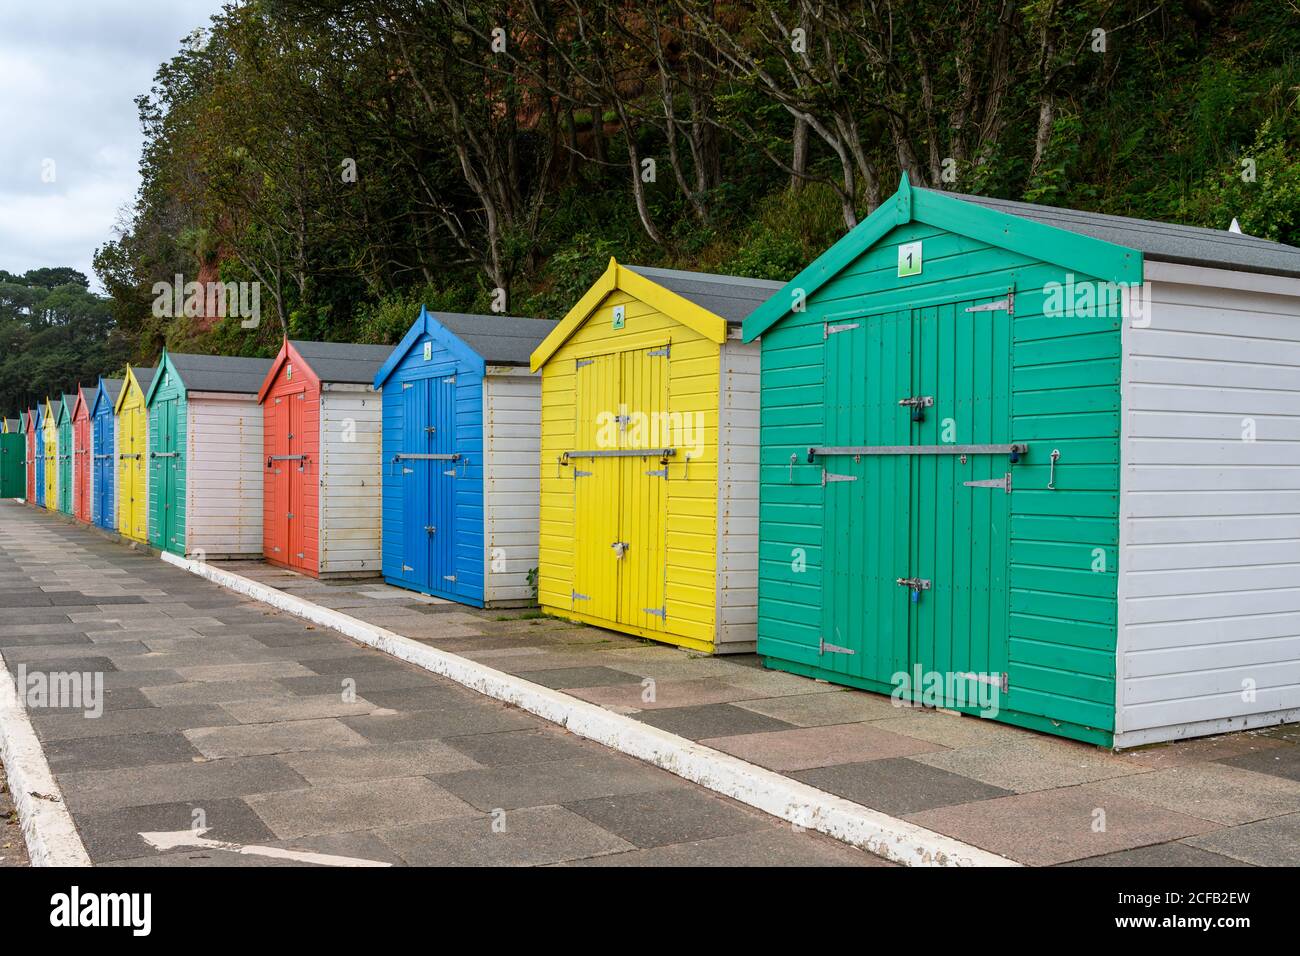
[[0, 659], [0, 761], [18, 809], [32, 866], [90, 866], [90, 855], [64, 805], [18, 688]]

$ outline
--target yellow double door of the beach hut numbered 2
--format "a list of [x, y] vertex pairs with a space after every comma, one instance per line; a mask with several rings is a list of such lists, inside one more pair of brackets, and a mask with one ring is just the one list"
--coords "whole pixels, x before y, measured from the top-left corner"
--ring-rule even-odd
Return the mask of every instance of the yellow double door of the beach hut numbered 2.
[[664, 631], [668, 347], [577, 359], [573, 604]]

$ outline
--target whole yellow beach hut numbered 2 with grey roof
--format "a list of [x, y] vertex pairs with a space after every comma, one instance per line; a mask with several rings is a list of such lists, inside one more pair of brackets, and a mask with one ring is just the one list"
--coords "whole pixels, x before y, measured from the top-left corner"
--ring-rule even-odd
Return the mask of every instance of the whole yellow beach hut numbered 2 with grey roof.
[[780, 287], [611, 259], [533, 352], [542, 610], [754, 649], [759, 352], [740, 323]]

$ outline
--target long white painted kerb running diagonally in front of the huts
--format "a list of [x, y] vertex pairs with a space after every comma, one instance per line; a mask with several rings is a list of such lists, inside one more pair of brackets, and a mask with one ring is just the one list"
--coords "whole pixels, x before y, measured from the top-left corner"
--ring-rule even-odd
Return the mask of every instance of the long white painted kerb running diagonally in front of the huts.
[[654, 763], [742, 804], [907, 866], [1019, 866], [1006, 857], [850, 803], [728, 753], [595, 704], [494, 670], [321, 607], [224, 568], [162, 553], [162, 561], [352, 640], [536, 714], [620, 753]]

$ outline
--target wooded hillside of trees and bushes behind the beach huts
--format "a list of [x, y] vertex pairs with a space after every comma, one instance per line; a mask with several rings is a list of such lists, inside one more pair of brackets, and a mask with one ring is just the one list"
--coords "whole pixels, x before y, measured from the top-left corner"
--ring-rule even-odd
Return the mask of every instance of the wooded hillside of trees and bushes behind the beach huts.
[[[611, 256], [785, 280], [901, 168], [920, 186], [1216, 228], [1236, 217], [1300, 242], [1287, 4], [723, 7], [226, 4], [208, 44], [179, 49], [138, 100], [134, 216], [95, 255], [107, 303], [66, 269], [0, 272], [0, 395], [150, 363], [164, 343], [395, 342], [421, 304], [488, 312], [498, 286], [508, 312], [559, 319]], [[506, 13], [500, 57], [484, 23]], [[805, 18], [807, 57], [783, 56], [781, 30]], [[796, 114], [816, 121], [802, 179]], [[633, 179], [633, 151], [655, 160], [654, 181]], [[152, 316], [155, 282], [200, 269], [260, 282], [261, 325]]]

